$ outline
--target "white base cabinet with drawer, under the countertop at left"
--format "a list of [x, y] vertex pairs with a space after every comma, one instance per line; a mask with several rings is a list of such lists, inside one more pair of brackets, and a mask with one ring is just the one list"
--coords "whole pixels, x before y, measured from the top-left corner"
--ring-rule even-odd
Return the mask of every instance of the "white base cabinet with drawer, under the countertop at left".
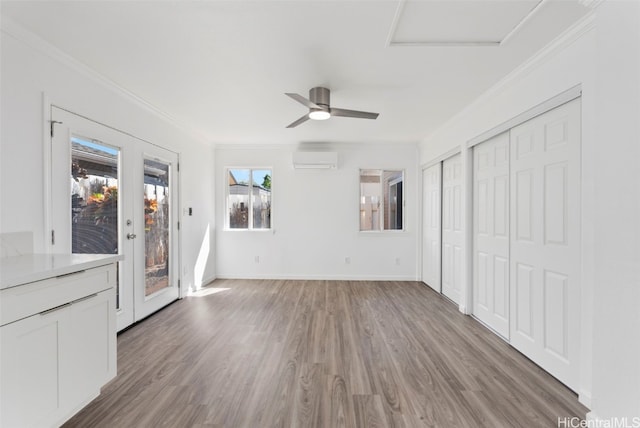
[[0, 426], [59, 426], [116, 375], [115, 285], [110, 263], [0, 290]]

